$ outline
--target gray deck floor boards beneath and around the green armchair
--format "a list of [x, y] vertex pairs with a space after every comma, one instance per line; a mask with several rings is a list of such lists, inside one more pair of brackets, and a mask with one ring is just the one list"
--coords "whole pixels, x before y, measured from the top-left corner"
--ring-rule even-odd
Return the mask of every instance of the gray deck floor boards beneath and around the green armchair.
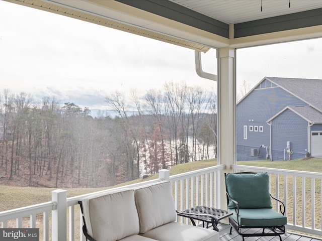
[[[218, 224], [218, 229], [219, 229], [219, 235], [220, 235], [220, 241], [243, 241], [243, 238], [241, 238], [238, 233], [232, 229], [231, 235], [229, 234], [230, 231], [230, 226], [227, 224], [219, 223]], [[284, 241], [321, 241], [322, 239], [315, 239], [311, 237], [306, 237], [306, 236], [301, 236], [299, 234], [292, 234], [292, 233], [287, 233], [286, 235], [281, 235], [282, 240]], [[271, 236], [266, 236], [266, 237], [246, 237], [245, 241], [279, 241], [279, 237], [271, 237]]]

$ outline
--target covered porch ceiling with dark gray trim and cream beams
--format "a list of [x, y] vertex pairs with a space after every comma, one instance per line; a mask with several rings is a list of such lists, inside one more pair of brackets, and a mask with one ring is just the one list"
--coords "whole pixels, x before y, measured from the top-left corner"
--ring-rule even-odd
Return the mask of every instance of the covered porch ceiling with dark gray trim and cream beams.
[[5, 0], [200, 52], [322, 37], [320, 0]]

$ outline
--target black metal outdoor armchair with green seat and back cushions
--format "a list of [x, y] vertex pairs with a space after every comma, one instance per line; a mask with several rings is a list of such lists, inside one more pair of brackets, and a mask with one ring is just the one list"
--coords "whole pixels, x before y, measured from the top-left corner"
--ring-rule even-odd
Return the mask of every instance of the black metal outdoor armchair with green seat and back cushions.
[[[232, 227], [239, 235], [279, 236], [285, 233], [284, 203], [270, 194], [267, 173], [225, 174], [230, 234]], [[273, 209], [271, 198], [279, 202], [279, 211]]]

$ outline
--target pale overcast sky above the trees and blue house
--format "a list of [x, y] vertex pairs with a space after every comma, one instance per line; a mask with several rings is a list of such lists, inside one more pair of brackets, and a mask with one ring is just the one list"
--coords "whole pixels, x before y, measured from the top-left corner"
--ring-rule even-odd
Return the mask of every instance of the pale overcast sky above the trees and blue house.
[[[203, 69], [216, 74], [215, 51], [202, 55]], [[321, 60], [321, 39], [239, 49], [237, 90], [265, 76], [322, 79]], [[170, 81], [216, 88], [194, 64], [187, 48], [0, 1], [0, 92], [104, 109], [116, 90], [144, 94]]]

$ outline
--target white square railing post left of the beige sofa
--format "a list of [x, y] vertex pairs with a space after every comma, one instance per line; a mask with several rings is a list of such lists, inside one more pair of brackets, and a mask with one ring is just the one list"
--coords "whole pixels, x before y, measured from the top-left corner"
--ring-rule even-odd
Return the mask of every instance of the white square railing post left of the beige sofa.
[[51, 239], [53, 241], [67, 240], [67, 191], [57, 189], [51, 192], [51, 200], [57, 203], [57, 208], [51, 212]]

